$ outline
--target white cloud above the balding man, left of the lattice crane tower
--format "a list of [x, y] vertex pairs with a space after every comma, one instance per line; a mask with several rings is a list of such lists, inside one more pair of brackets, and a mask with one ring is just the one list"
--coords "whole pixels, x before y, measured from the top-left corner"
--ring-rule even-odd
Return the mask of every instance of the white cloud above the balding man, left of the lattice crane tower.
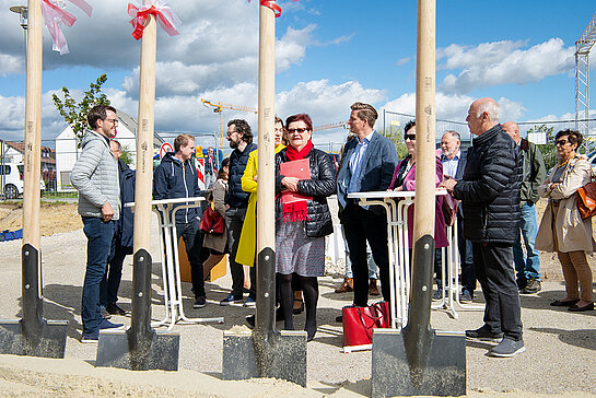
[[564, 47], [560, 38], [531, 46], [524, 42], [482, 43], [476, 47], [451, 45], [439, 51], [446, 58], [441, 69], [461, 69], [448, 74], [440, 89], [446, 93], [469, 93], [499, 84], [526, 84], [546, 77], [566, 73], [574, 67], [574, 47]]

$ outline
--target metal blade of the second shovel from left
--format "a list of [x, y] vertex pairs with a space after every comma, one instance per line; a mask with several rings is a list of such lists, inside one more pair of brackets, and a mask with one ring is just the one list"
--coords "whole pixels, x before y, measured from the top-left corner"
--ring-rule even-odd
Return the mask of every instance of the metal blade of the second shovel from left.
[[132, 371], [177, 371], [180, 335], [153, 331], [138, 347], [131, 347], [127, 331], [102, 331], [95, 366]]

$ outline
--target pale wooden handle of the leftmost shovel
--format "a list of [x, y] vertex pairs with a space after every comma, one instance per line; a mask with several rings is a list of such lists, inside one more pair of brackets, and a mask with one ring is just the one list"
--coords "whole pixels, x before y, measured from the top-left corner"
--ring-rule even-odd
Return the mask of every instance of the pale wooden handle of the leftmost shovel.
[[42, 4], [28, 0], [27, 83], [25, 92], [25, 169], [23, 245], [39, 250], [39, 178], [42, 173]]

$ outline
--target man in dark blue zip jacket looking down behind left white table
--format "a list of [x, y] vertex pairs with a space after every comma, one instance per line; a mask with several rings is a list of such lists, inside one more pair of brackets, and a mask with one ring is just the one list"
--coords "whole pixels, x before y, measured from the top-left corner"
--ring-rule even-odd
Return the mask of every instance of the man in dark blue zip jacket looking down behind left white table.
[[[155, 168], [153, 176], [153, 199], [194, 198], [201, 195], [197, 169], [191, 162], [195, 152], [195, 138], [179, 134], [174, 140], [174, 153], [168, 152]], [[202, 274], [200, 233], [200, 211], [198, 208], [178, 210], [176, 212], [176, 235], [186, 245], [186, 254], [190, 262], [190, 278], [195, 293], [194, 308], [202, 308], [207, 304], [204, 280]]]

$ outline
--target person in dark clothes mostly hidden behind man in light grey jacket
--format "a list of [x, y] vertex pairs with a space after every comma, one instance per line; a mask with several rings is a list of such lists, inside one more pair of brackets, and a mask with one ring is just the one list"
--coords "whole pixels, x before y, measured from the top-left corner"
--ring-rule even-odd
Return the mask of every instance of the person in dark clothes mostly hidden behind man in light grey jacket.
[[114, 255], [107, 264], [107, 270], [100, 283], [100, 305], [109, 315], [126, 315], [126, 311], [116, 304], [118, 289], [122, 278], [122, 262], [132, 254], [132, 236], [135, 234], [135, 216], [125, 203], [135, 201], [135, 172], [122, 162], [122, 147], [117, 140], [109, 141], [109, 150], [118, 162], [118, 179], [120, 180], [120, 219], [116, 221], [112, 246]]

